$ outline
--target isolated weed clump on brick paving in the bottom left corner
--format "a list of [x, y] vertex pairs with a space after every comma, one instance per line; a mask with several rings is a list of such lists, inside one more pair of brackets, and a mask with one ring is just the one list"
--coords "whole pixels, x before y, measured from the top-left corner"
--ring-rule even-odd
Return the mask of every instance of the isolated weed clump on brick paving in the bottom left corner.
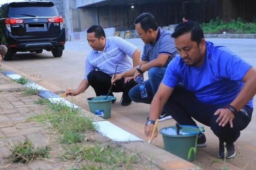
[[9, 159], [13, 162], [19, 163], [28, 163], [36, 158], [48, 158], [49, 155], [49, 147], [36, 147], [34, 146], [29, 139], [25, 139], [24, 142], [20, 142], [18, 144], [9, 143], [9, 149], [11, 150], [11, 154], [9, 155]]

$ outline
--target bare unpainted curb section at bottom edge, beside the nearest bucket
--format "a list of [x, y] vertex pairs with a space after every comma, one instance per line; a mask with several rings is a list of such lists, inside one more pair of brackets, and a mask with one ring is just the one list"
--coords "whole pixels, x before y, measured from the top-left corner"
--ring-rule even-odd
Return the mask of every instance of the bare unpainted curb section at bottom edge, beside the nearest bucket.
[[152, 144], [142, 142], [132, 142], [124, 144], [124, 146], [135, 152], [139, 152], [145, 156], [149, 161], [152, 161], [163, 170], [198, 170], [199, 167], [195, 166], [189, 161], [181, 159], [159, 147]]

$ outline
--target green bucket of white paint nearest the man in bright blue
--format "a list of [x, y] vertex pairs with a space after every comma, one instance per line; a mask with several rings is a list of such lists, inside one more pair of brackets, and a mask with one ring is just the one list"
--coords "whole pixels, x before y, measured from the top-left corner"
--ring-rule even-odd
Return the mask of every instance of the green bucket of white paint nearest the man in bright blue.
[[194, 152], [191, 153], [188, 159], [189, 150], [196, 146], [197, 135], [204, 131], [204, 127], [202, 127], [202, 131], [197, 126], [180, 125], [180, 127], [182, 129], [180, 129], [180, 134], [178, 135], [176, 126], [160, 129], [160, 133], [163, 136], [164, 149], [182, 159], [193, 161], [195, 159]]

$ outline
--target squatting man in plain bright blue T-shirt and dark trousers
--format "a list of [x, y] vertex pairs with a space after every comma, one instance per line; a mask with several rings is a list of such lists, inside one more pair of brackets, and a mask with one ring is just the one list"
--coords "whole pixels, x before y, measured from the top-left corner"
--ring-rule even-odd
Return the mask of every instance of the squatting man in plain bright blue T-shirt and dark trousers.
[[[236, 155], [234, 142], [249, 124], [256, 94], [256, 69], [227, 47], [204, 39], [201, 27], [192, 21], [180, 23], [172, 34], [180, 57], [169, 63], [151, 103], [145, 134], [165, 108], [181, 125], [198, 122], [211, 127], [219, 138], [218, 157]], [[157, 133], [154, 134], [156, 136]], [[198, 143], [204, 146], [203, 133]]]

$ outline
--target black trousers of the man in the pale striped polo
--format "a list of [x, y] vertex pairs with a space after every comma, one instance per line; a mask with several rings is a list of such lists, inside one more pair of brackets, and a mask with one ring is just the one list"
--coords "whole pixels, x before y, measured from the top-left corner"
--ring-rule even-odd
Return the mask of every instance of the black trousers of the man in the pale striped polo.
[[[88, 76], [88, 82], [89, 85], [91, 85], [96, 93], [96, 96], [100, 95], [107, 95], [108, 90], [111, 87], [111, 77], [102, 72], [102, 71], [91, 71]], [[128, 92], [130, 91], [131, 88], [133, 88], [135, 85], [137, 85], [137, 82], [134, 81], [134, 79], [131, 79], [129, 82], [124, 83], [125, 79], [122, 78], [118, 81], [115, 82], [116, 85], [113, 85], [111, 94], [113, 95], [112, 92], [123, 92], [122, 97], [124, 99], [129, 99]]]

